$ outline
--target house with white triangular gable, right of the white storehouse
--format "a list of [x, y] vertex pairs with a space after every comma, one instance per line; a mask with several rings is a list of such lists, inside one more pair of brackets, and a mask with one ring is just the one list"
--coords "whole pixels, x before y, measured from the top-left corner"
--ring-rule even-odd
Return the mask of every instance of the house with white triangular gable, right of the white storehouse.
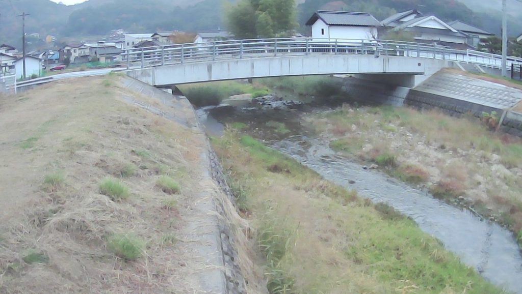
[[436, 16], [413, 18], [394, 27], [395, 31], [411, 32], [419, 43], [435, 43], [456, 49], [468, 48], [468, 35], [460, 32]]

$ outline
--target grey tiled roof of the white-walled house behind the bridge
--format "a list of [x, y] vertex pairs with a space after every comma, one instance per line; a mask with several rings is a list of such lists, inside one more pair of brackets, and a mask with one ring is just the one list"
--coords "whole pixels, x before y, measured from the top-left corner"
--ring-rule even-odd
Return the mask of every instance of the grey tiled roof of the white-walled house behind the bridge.
[[327, 25], [334, 26], [381, 27], [381, 23], [369, 13], [329, 10], [316, 11], [306, 25], [312, 26], [318, 19], [323, 20]]

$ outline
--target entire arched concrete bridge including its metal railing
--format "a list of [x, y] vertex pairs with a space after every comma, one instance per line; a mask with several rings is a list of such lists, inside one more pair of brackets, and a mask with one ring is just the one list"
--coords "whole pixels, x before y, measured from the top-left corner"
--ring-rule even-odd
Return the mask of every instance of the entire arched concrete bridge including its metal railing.
[[[501, 56], [442, 46], [379, 40], [256, 39], [133, 48], [127, 75], [157, 87], [246, 78], [354, 74], [415, 87], [460, 63], [499, 68]], [[512, 64], [522, 59], [509, 58]]]

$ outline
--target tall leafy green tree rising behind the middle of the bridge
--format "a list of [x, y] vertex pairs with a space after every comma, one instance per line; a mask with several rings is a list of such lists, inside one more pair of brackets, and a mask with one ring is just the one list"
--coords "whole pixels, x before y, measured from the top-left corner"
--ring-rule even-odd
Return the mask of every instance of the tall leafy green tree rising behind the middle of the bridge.
[[295, 0], [240, 0], [228, 8], [227, 22], [241, 39], [288, 36], [297, 27]]

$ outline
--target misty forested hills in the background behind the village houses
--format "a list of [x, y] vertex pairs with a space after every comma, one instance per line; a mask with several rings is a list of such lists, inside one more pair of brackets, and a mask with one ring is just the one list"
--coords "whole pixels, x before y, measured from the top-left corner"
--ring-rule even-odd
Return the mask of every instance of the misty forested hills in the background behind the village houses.
[[[89, 0], [65, 6], [50, 0], [0, 0], [0, 43], [20, 46], [21, 19], [17, 15], [22, 12], [31, 14], [27, 18], [28, 34], [83, 38], [120, 28], [130, 32], [224, 28], [224, 9], [231, 2], [235, 0]], [[459, 19], [500, 33], [500, 10], [483, 5], [468, 7], [464, 2], [469, 4], [471, 0], [298, 0], [298, 18], [304, 32], [304, 22], [318, 9], [366, 11], [381, 20], [396, 11], [418, 8], [446, 21]], [[491, 3], [496, 5], [495, 1]], [[511, 10], [520, 9], [512, 6]], [[519, 13], [522, 15], [522, 11]], [[514, 15], [512, 11], [510, 35], [522, 30], [522, 21]]]

